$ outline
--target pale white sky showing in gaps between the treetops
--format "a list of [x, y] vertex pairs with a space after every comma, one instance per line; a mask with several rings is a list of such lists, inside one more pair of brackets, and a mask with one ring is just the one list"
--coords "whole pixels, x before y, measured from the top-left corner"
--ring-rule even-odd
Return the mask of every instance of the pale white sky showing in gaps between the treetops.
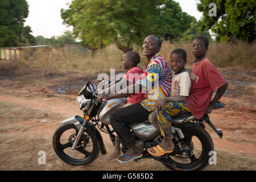
[[[30, 26], [33, 36], [43, 35], [44, 38], [63, 35], [63, 32], [72, 30], [72, 27], [64, 25], [60, 17], [61, 8], [67, 9], [67, 3], [72, 0], [26, 0], [29, 6], [29, 14], [25, 26]], [[197, 11], [196, 0], [175, 0], [180, 3], [182, 11], [195, 16], [197, 20], [202, 13]]]

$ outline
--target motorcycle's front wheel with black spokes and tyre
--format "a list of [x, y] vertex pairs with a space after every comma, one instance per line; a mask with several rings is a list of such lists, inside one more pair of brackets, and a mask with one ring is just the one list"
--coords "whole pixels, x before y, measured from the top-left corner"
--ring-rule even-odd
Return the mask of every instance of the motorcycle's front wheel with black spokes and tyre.
[[82, 134], [77, 149], [72, 150], [79, 130], [73, 124], [59, 126], [53, 134], [53, 148], [61, 160], [72, 166], [92, 163], [100, 154], [100, 142], [89, 128]]

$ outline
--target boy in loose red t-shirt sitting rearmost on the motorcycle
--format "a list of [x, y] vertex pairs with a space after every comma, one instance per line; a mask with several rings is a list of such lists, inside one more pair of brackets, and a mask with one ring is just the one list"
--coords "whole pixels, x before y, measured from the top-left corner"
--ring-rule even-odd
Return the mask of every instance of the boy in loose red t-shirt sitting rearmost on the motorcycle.
[[[200, 119], [204, 113], [210, 114], [217, 101], [223, 96], [228, 83], [220, 72], [206, 57], [209, 40], [205, 36], [197, 36], [193, 40], [192, 52], [196, 57], [191, 73], [191, 89], [187, 98], [191, 113]], [[217, 90], [212, 99], [213, 91]]]

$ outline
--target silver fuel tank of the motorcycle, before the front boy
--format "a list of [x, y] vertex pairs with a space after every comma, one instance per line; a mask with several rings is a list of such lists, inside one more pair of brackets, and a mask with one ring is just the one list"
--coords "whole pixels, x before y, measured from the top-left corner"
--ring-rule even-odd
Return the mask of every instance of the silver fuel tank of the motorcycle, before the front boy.
[[105, 101], [100, 110], [98, 110], [98, 119], [105, 125], [110, 125], [109, 116], [115, 110], [122, 108], [125, 104], [127, 104], [126, 98], [115, 98], [109, 101]]

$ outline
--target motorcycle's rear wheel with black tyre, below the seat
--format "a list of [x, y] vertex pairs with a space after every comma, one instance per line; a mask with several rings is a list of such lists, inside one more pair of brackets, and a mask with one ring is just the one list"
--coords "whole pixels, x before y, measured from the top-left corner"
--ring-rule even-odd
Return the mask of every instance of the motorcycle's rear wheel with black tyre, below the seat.
[[[188, 156], [184, 158], [184, 156], [172, 156], [168, 155], [167, 159], [160, 159], [160, 162], [163, 162], [165, 166], [174, 170], [186, 170], [186, 171], [194, 171], [194, 170], [203, 170], [209, 164], [210, 151], [214, 151], [214, 146], [212, 142], [212, 138], [208, 132], [201, 126], [197, 124], [193, 124], [192, 127], [183, 127], [181, 129], [183, 133], [185, 133], [185, 138], [181, 140], [181, 147], [189, 148], [193, 151], [192, 156]], [[193, 144], [189, 143], [193, 138], [197, 138], [197, 145], [201, 146], [201, 151], [197, 147], [194, 148]], [[200, 142], [199, 142], [200, 141]], [[196, 154], [198, 153], [198, 154]], [[188, 162], [184, 162], [188, 161]]]

